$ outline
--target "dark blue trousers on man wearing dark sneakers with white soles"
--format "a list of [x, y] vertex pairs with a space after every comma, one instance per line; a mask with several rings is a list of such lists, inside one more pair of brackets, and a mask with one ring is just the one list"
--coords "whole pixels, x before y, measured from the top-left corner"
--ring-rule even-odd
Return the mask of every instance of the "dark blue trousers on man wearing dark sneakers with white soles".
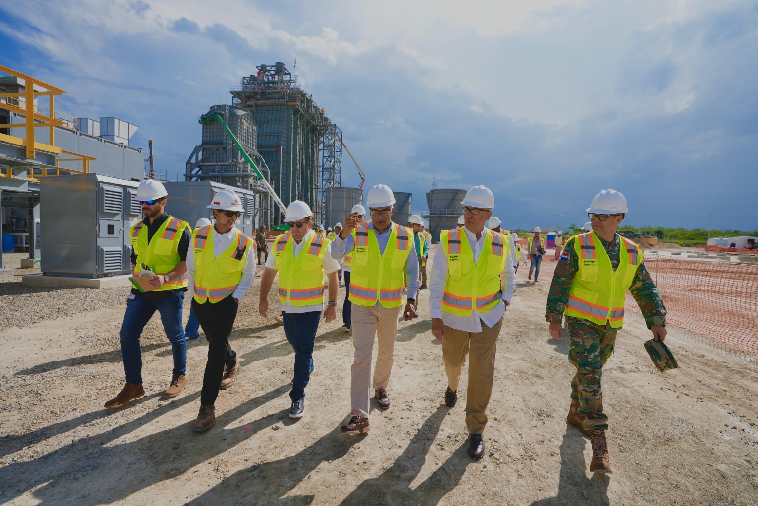
[[313, 372], [313, 345], [321, 311], [307, 313], [287, 313], [284, 311], [284, 335], [295, 350], [295, 375], [293, 376], [290, 398], [296, 401], [305, 397], [305, 387]]

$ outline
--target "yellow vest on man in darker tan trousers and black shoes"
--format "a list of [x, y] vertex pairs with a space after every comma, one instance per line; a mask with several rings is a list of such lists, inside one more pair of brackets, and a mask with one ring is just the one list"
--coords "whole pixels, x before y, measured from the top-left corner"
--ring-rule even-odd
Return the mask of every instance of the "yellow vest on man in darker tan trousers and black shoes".
[[500, 301], [500, 273], [506, 268], [508, 242], [500, 233], [484, 229], [479, 261], [463, 229], [442, 230], [440, 249], [447, 257], [447, 283], [442, 294], [442, 311], [469, 316], [474, 309], [486, 313]]

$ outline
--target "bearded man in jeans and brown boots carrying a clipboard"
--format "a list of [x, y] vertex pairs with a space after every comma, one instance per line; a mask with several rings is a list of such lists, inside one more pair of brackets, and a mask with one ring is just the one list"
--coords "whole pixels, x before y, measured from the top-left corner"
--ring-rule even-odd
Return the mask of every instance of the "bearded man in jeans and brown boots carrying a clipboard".
[[155, 180], [145, 180], [137, 187], [136, 200], [145, 219], [129, 229], [132, 246], [132, 274], [149, 271], [148, 290], [133, 288], [127, 298], [127, 311], [121, 323], [121, 358], [126, 385], [105, 403], [105, 408], [121, 408], [145, 395], [142, 379], [142, 351], [139, 336], [155, 311], [161, 314], [163, 329], [171, 342], [174, 370], [171, 383], [163, 393], [176, 397], [186, 385], [187, 343], [182, 328], [182, 305], [186, 292], [186, 254], [191, 238], [189, 224], [171, 217], [166, 211], [168, 192]]

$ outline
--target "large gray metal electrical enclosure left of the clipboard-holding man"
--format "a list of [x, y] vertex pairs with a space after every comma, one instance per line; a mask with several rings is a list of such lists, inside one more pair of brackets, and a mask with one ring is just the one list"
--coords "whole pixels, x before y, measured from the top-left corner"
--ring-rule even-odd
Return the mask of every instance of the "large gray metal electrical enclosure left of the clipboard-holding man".
[[138, 184], [96, 173], [42, 178], [42, 273], [86, 278], [130, 273], [129, 228], [142, 218]]

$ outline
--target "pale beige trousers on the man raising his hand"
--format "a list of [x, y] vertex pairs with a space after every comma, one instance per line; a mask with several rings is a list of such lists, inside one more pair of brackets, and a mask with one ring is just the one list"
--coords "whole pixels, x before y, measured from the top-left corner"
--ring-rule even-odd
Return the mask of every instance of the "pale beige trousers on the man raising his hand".
[[401, 311], [402, 305], [397, 308], [352, 305], [352, 345], [355, 354], [350, 368], [350, 404], [356, 414], [368, 417], [374, 336], [378, 348], [377, 363], [374, 366], [374, 389], [386, 389], [390, 383], [392, 364], [395, 361], [397, 319]]

